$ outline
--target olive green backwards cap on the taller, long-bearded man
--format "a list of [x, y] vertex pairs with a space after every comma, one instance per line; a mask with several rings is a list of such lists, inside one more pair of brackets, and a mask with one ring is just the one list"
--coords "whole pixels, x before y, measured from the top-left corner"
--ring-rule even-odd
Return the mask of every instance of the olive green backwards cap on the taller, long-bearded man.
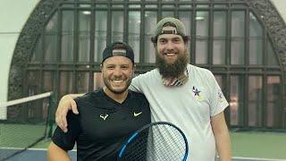
[[[173, 26], [175, 30], [163, 30], [164, 26]], [[184, 24], [180, 20], [173, 17], [166, 17], [156, 24], [155, 35], [158, 36], [162, 34], [176, 34], [185, 37], [186, 30]]]

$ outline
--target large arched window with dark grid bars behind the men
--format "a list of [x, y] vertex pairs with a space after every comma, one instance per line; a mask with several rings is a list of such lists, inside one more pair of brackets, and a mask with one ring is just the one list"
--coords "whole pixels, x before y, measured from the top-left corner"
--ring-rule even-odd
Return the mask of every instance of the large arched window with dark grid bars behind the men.
[[269, 16], [281, 17], [269, 1], [67, 0], [54, 9], [30, 52], [25, 94], [62, 97], [102, 87], [101, 54], [117, 40], [133, 47], [138, 73], [153, 69], [156, 21], [173, 16], [190, 37], [190, 63], [214, 72], [229, 100], [231, 127], [285, 128], [286, 51], [273, 46], [279, 33]]

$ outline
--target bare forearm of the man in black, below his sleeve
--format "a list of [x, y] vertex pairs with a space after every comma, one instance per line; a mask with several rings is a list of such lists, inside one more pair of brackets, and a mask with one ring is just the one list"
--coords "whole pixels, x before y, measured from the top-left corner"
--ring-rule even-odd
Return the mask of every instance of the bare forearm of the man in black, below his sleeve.
[[71, 161], [71, 157], [69, 157], [68, 153], [63, 150], [63, 148], [56, 146], [54, 142], [51, 142], [47, 148], [46, 157], [47, 161]]

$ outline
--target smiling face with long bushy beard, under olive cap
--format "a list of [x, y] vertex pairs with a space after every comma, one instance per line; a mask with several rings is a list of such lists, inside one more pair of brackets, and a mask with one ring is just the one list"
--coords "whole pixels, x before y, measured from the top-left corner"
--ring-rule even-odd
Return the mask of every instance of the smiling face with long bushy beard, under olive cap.
[[[166, 26], [163, 30], [174, 30]], [[164, 77], [178, 77], [184, 72], [189, 62], [187, 45], [180, 35], [162, 34], [156, 43], [156, 65]]]

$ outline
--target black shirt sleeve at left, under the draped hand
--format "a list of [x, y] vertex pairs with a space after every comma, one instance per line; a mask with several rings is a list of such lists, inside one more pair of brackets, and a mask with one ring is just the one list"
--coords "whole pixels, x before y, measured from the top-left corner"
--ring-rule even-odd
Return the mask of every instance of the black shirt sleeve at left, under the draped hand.
[[69, 112], [67, 115], [68, 131], [64, 133], [58, 126], [52, 137], [53, 142], [63, 150], [71, 150], [80, 134], [79, 115]]

